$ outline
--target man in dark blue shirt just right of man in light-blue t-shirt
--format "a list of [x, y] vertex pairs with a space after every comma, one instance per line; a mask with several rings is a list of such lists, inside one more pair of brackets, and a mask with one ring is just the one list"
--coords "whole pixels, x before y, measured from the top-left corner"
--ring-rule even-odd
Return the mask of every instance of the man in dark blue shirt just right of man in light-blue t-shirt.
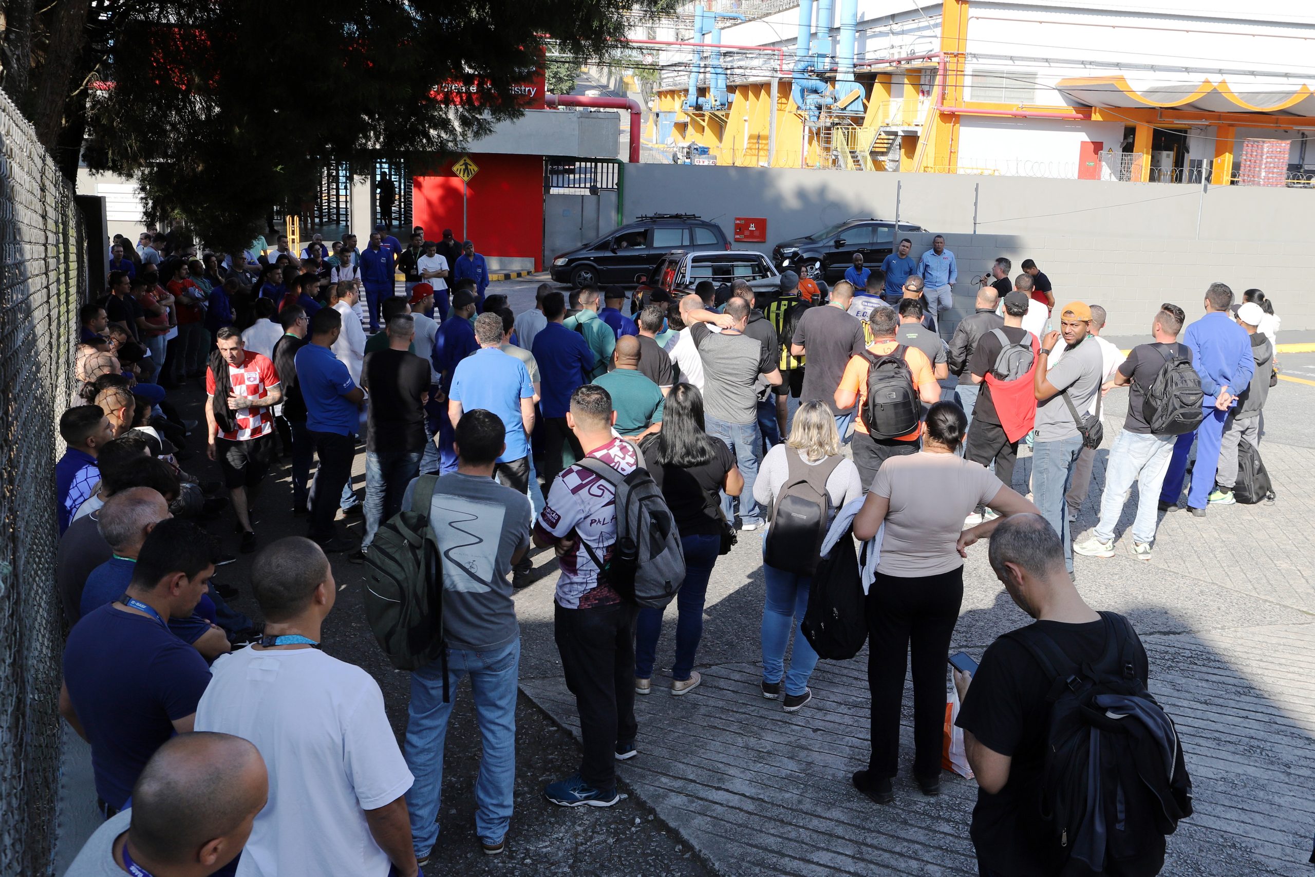
[[548, 321], [534, 337], [534, 362], [539, 363], [539, 412], [543, 414], [543, 479], [552, 479], [584, 456], [579, 440], [567, 426], [571, 393], [589, 383], [596, 358], [580, 333], [562, 325], [567, 301], [560, 292], [543, 297], [543, 316]]

